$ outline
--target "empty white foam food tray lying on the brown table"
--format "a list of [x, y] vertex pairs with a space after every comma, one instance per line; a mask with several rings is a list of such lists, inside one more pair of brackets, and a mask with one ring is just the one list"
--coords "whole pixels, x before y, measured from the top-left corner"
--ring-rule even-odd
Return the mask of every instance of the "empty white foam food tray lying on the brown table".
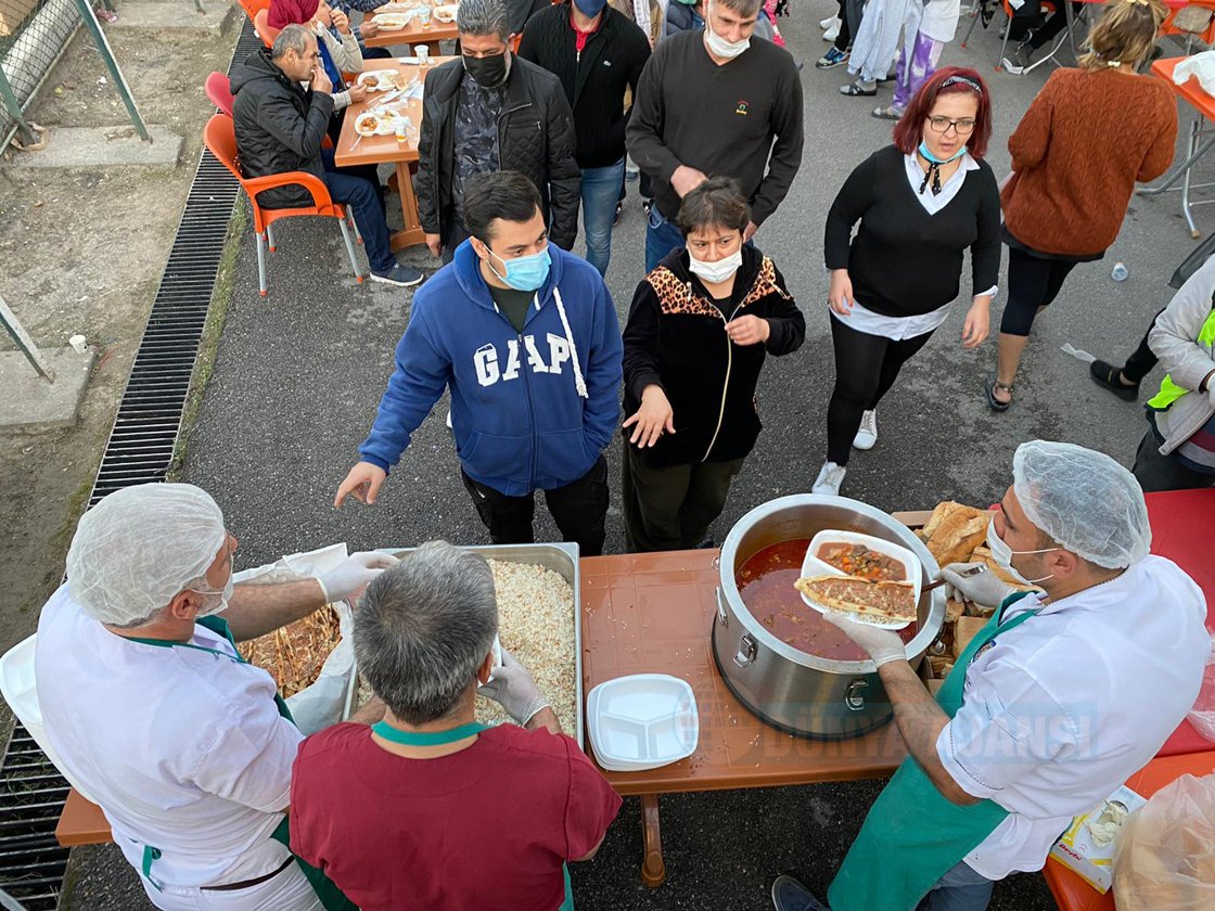
[[587, 729], [604, 769], [657, 769], [696, 752], [696, 697], [686, 680], [669, 674], [618, 677], [590, 691]]

